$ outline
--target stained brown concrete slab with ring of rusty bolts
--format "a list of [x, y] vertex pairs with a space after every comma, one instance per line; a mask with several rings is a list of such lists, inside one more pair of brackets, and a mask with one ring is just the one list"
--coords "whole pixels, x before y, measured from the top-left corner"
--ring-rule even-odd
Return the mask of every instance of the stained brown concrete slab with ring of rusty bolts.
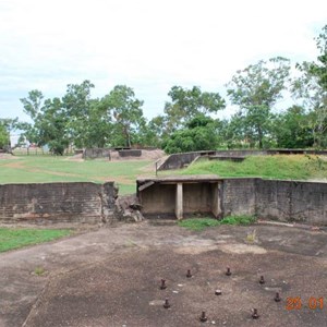
[[[47, 272], [37, 276], [35, 267]], [[193, 232], [145, 221], [1, 254], [0, 271], [3, 327], [204, 326], [202, 311], [217, 326], [327, 325], [322, 231], [256, 225]]]

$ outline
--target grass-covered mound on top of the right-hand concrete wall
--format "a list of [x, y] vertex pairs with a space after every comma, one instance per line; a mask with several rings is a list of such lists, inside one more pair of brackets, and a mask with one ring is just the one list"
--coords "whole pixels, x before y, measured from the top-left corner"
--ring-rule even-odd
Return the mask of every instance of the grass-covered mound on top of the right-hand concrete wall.
[[[170, 171], [170, 173], [172, 173]], [[316, 156], [253, 156], [242, 162], [208, 160], [174, 171], [179, 174], [215, 173], [220, 177], [307, 180], [327, 178], [327, 161]]]

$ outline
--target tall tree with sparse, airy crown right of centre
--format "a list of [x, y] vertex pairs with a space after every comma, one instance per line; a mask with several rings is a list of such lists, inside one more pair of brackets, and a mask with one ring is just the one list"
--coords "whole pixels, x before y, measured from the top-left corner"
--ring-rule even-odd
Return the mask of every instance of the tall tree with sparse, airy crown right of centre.
[[289, 72], [289, 60], [277, 57], [238, 71], [228, 84], [228, 96], [240, 108], [238, 118], [242, 121], [244, 137], [257, 142], [259, 148], [269, 133], [271, 109], [282, 97]]

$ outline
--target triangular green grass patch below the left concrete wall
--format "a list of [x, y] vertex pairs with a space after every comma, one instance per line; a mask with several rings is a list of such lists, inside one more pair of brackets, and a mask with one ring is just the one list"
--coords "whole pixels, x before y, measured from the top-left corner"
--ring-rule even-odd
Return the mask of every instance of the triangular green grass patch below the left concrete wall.
[[49, 242], [72, 233], [69, 229], [0, 228], [0, 252]]

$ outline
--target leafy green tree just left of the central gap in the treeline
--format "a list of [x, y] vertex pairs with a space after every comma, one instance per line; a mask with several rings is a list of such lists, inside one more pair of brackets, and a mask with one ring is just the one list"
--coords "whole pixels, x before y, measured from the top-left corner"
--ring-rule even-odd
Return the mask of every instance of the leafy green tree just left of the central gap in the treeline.
[[117, 85], [102, 102], [113, 121], [112, 145], [131, 147], [135, 133], [144, 124], [143, 101], [135, 98], [134, 90], [125, 85]]

